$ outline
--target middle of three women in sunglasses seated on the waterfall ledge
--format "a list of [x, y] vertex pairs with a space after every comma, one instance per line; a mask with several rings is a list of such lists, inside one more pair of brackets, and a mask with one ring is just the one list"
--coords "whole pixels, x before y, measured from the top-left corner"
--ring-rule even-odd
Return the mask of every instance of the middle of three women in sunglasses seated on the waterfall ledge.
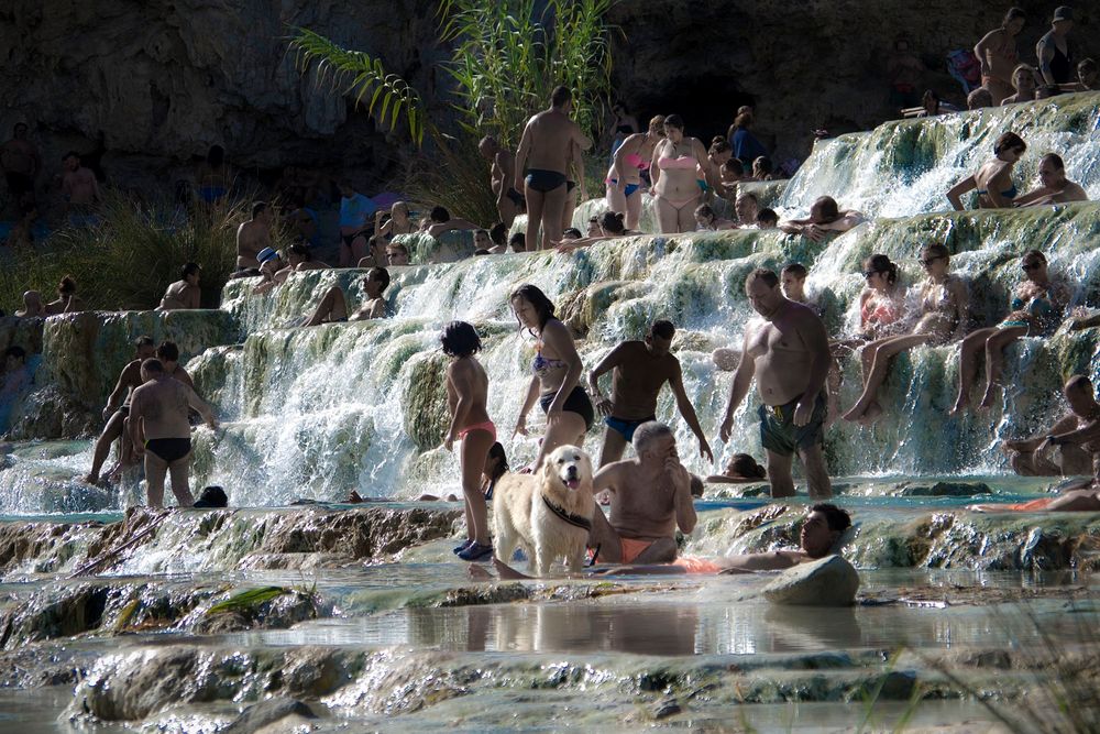
[[[949, 270], [950, 254], [942, 244], [928, 244], [921, 251], [921, 264], [928, 277], [917, 286], [917, 309], [912, 331], [876, 339], [860, 354], [865, 365], [864, 393], [844, 415], [845, 420], [870, 423], [879, 417], [879, 387], [887, 376], [890, 360], [921, 344], [946, 344], [963, 338], [969, 315], [970, 294], [963, 280]], [[867, 365], [870, 364], [870, 370]]]

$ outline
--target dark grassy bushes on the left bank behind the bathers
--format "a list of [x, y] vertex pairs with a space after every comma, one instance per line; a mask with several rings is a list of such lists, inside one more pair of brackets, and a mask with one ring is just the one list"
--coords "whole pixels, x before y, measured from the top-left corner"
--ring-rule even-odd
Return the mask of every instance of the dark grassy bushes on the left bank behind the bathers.
[[20, 305], [26, 289], [52, 299], [66, 274], [76, 278], [87, 308], [154, 308], [186, 262], [202, 267], [202, 305], [216, 307], [237, 264], [237, 228], [250, 217], [240, 202], [187, 216], [170, 202], [144, 202], [110, 190], [98, 213], [94, 227], [61, 229], [33, 251], [13, 253], [0, 269], [6, 310]]

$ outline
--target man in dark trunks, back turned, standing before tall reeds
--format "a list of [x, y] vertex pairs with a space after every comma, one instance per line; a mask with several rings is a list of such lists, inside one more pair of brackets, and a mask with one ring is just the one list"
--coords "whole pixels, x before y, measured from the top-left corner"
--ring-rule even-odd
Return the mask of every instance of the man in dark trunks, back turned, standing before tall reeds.
[[[516, 153], [516, 190], [527, 199], [527, 249], [546, 250], [561, 241], [565, 209], [565, 178], [572, 146], [592, 147], [581, 128], [569, 119], [573, 95], [558, 87], [550, 96], [550, 109], [528, 121]], [[541, 232], [541, 237], [540, 237]]]

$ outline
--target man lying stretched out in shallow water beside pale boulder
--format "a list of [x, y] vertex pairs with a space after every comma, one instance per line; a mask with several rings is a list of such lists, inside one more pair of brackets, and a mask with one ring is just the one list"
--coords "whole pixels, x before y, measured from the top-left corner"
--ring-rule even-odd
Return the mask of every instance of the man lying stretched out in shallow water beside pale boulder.
[[[684, 556], [671, 563], [654, 566], [610, 566], [593, 568], [592, 573], [601, 576], [651, 576], [680, 573], [754, 573], [756, 571], [782, 571], [800, 563], [820, 560], [838, 550], [837, 546], [845, 532], [851, 527], [848, 512], [829, 503], [818, 503], [810, 507], [810, 514], [802, 523], [798, 550], [769, 550], [757, 554], [702, 558]], [[501, 579], [529, 579], [519, 571], [494, 559]], [[487, 579], [488, 572], [475, 567], [470, 569], [475, 579]]]

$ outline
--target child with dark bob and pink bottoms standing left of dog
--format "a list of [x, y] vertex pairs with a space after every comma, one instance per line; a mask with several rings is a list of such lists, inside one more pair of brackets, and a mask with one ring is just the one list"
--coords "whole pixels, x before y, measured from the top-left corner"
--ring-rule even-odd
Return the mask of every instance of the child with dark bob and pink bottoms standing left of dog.
[[451, 321], [439, 335], [443, 353], [451, 358], [447, 368], [447, 404], [451, 427], [443, 437], [448, 451], [462, 441], [462, 494], [466, 506], [466, 541], [455, 548], [464, 561], [488, 560], [493, 544], [488, 537], [488, 512], [481, 489], [482, 471], [490, 448], [496, 441], [496, 426], [488, 419], [488, 375], [474, 357], [481, 351], [477, 331], [465, 321]]

